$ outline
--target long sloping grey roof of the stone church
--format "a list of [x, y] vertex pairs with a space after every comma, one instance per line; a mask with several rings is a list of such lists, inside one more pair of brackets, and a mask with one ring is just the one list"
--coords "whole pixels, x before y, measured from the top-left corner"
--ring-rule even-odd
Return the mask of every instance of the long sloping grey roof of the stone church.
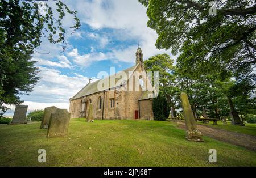
[[[123, 71], [119, 71], [118, 73], [125, 72], [126, 76], [128, 76], [128, 78], [127, 78], [127, 80], [128, 80], [130, 78], [129, 71], [134, 72], [134, 70], [136, 69], [137, 66], [138, 66], [138, 64], [134, 65], [134, 66], [132, 66], [132, 67], [130, 67], [128, 69], [125, 69]], [[114, 75], [117, 75], [118, 73], [115, 73]], [[100, 90], [98, 90], [98, 83], [100, 81], [103, 82], [103, 80], [108, 80], [109, 81], [109, 87], [106, 86], [101, 91], [108, 90], [110, 88], [110, 78], [111, 77], [113, 77], [113, 75], [110, 75], [109, 77], [106, 77], [106, 78], [101, 79], [101, 80], [97, 80], [96, 82], [92, 82], [92, 83], [86, 84], [86, 86], [84, 88], [82, 88], [82, 90], [80, 90], [75, 96], [73, 96], [71, 98], [71, 100], [82, 98], [84, 96], [91, 95], [91, 94], [94, 94], [96, 92], [100, 92]], [[122, 80], [120, 81], [120, 79], [122, 79], [123, 81]], [[115, 78], [115, 87], [118, 87], [120, 82], [122, 82], [122, 83], [126, 82], [125, 78]]]

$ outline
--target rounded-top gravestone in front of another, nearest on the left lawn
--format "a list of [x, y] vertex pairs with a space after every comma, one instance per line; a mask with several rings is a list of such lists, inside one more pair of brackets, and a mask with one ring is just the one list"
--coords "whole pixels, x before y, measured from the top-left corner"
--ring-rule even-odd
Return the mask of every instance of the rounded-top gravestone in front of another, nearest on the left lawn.
[[47, 137], [67, 135], [69, 120], [70, 113], [68, 110], [57, 108], [56, 111], [51, 114], [47, 130]]

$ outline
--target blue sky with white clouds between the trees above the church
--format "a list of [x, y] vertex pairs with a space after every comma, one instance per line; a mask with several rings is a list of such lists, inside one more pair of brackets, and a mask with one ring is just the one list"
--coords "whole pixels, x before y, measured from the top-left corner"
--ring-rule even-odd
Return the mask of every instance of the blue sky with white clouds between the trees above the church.
[[[52, 105], [68, 109], [69, 98], [80, 91], [89, 78], [96, 81], [100, 71], [110, 74], [110, 67], [115, 67], [117, 72], [133, 66], [138, 41], [144, 60], [156, 54], [170, 54], [170, 51], [156, 49], [158, 36], [154, 29], [147, 27], [146, 7], [137, 0], [63, 2], [78, 12], [81, 29], [71, 35], [67, 27], [73, 24], [73, 19], [71, 15], [65, 17], [68, 47], [64, 52], [60, 44], [54, 45], [42, 38], [32, 58], [38, 61], [36, 66], [41, 78], [34, 91], [21, 96], [28, 112]], [[6, 115], [13, 112], [14, 107]]]

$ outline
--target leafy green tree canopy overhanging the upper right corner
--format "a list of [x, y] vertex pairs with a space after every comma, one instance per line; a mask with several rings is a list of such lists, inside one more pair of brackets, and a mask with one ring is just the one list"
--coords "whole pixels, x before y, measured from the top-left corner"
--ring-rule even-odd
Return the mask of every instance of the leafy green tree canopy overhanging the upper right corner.
[[147, 7], [148, 27], [158, 33], [156, 47], [181, 52], [177, 60], [191, 72], [224, 66], [234, 77], [253, 80], [256, 63], [254, 0], [138, 0]]

